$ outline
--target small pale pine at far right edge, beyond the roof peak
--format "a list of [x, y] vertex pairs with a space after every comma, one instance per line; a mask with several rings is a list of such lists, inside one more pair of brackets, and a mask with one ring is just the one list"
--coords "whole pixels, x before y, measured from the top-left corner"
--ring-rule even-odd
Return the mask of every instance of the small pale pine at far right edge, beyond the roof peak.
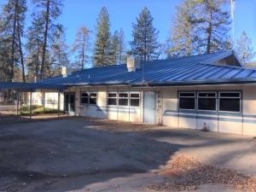
[[252, 39], [247, 37], [246, 32], [241, 32], [241, 37], [236, 40], [236, 53], [244, 66], [251, 62], [256, 55], [252, 47]]

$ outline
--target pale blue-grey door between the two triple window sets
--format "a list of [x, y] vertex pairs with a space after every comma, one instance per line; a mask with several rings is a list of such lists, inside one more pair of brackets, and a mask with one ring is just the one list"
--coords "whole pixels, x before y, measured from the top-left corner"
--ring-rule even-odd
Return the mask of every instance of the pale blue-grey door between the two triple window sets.
[[156, 96], [154, 91], [144, 92], [144, 123], [155, 124]]

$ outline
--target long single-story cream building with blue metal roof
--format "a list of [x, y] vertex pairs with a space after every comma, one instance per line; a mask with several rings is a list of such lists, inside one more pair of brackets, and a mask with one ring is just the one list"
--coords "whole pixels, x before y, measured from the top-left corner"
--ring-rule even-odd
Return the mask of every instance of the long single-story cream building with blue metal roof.
[[256, 136], [256, 70], [241, 67], [232, 50], [129, 58], [40, 83], [67, 85], [63, 108], [73, 115]]

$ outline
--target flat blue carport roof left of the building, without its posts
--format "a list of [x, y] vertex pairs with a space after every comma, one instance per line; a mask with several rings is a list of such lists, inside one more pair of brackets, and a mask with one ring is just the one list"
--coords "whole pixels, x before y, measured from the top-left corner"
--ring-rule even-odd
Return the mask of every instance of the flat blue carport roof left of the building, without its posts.
[[65, 90], [65, 84], [43, 84], [43, 83], [20, 83], [20, 82], [0, 82], [0, 90]]

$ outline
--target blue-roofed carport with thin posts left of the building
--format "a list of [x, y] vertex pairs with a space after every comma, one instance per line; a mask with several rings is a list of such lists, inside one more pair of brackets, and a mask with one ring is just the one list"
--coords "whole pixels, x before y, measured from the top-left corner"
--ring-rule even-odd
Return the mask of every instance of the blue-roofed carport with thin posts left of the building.
[[15, 90], [17, 92], [16, 109], [17, 115], [19, 110], [19, 94], [20, 92], [30, 93], [29, 100], [29, 117], [32, 119], [32, 92], [41, 90], [50, 90], [58, 92], [58, 116], [60, 113], [60, 94], [61, 91], [66, 90], [68, 85], [66, 84], [44, 84], [44, 83], [21, 83], [21, 82], [0, 82], [0, 90]]

